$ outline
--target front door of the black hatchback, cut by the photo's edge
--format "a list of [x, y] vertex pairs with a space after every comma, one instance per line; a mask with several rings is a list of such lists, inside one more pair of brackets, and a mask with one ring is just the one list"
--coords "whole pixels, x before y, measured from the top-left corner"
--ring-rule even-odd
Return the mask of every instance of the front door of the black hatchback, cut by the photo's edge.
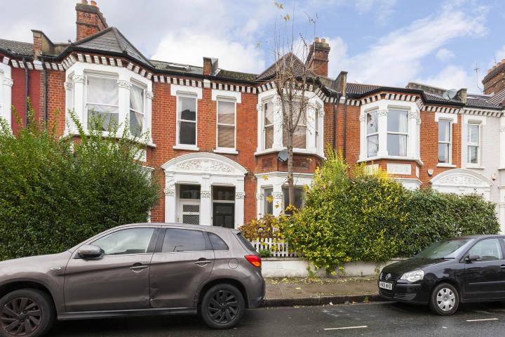
[[472, 255], [480, 259], [465, 265], [465, 299], [505, 298], [505, 259], [500, 239], [477, 242], [466, 254]]

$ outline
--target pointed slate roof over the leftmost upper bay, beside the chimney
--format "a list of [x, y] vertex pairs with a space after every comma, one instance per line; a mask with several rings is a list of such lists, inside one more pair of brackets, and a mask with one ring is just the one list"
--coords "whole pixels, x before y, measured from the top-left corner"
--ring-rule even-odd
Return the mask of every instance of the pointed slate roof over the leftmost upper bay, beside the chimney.
[[104, 53], [127, 54], [137, 61], [152, 66], [151, 62], [116, 27], [108, 27], [101, 32], [76, 41], [73, 46]]

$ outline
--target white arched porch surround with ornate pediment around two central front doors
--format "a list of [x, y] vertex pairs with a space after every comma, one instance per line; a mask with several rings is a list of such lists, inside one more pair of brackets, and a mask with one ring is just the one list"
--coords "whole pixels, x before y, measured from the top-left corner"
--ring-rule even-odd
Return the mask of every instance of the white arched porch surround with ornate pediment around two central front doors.
[[176, 185], [201, 186], [200, 224], [210, 226], [212, 219], [213, 185], [235, 187], [235, 227], [243, 225], [244, 178], [247, 170], [236, 161], [220, 154], [198, 152], [184, 154], [161, 166], [165, 171], [165, 221], [177, 223], [178, 196]]

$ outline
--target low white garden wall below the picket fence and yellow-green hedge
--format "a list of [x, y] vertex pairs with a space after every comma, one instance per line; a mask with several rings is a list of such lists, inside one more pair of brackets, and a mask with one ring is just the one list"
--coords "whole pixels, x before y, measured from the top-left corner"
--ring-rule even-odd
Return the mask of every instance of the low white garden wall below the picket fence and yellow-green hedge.
[[[392, 259], [386, 263], [356, 262], [344, 265], [344, 270], [335, 270], [335, 276], [375, 276], [386, 265], [395, 263], [400, 258]], [[309, 267], [311, 272], [309, 272]], [[263, 277], [324, 277], [324, 269], [314, 270], [314, 265], [304, 258], [262, 258]]]

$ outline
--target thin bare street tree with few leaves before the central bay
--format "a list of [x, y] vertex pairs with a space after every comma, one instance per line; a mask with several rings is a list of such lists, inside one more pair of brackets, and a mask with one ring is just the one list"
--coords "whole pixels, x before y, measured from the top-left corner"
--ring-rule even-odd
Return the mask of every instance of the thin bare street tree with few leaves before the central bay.
[[[282, 4], [276, 3], [276, 6], [283, 9]], [[316, 95], [313, 89], [317, 75], [302, 62], [309, 55], [309, 46], [304, 34], [295, 35], [293, 18], [294, 8], [292, 17], [288, 14], [283, 15], [283, 30], [278, 29], [276, 25], [272, 48], [275, 60], [274, 69], [272, 69], [274, 74], [268, 79], [276, 89], [278, 105], [281, 108], [283, 146], [288, 151], [287, 183], [290, 205], [295, 204], [293, 149], [306, 146], [306, 133], [311, 131], [307, 123], [307, 112], [309, 109], [319, 109], [311, 104], [311, 98]]]

